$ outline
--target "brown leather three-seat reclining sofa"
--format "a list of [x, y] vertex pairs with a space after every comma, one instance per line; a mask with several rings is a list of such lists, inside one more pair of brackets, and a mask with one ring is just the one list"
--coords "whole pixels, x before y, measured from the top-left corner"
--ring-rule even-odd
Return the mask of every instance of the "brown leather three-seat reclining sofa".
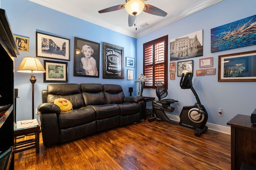
[[[57, 98], [69, 100], [72, 110], [60, 111]], [[125, 97], [122, 86], [115, 84], [49, 84], [38, 106], [44, 146], [140, 122], [145, 115], [142, 100]]]

